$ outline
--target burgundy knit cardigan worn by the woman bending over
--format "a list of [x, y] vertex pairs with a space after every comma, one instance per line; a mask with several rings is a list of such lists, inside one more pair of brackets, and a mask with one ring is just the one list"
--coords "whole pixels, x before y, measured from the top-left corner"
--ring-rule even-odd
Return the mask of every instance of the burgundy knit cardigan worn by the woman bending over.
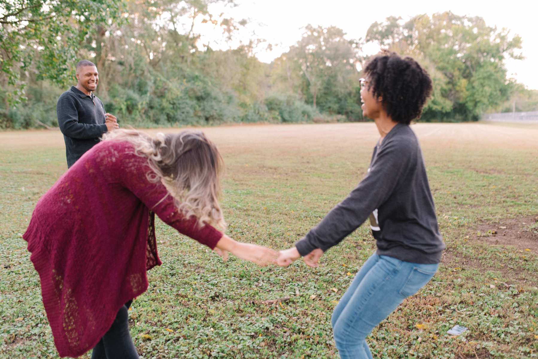
[[38, 201], [24, 234], [60, 356], [80, 356], [107, 332], [125, 302], [144, 293], [161, 261], [154, 213], [209, 248], [222, 233], [185, 219], [129, 142], [86, 152]]

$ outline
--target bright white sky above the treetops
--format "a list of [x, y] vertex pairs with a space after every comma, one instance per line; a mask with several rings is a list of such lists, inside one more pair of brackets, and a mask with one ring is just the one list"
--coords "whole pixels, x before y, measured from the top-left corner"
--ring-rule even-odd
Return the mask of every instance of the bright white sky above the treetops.
[[[538, 89], [538, 36], [536, 36], [536, 10], [534, 1], [477, 1], [452, 0], [447, 1], [356, 1], [356, 0], [236, 0], [239, 6], [226, 9], [225, 12], [240, 20], [247, 18], [249, 31], [254, 31], [259, 38], [273, 44], [271, 52], [259, 51], [256, 56], [264, 62], [271, 62], [286, 52], [301, 38], [301, 27], [334, 25], [343, 29], [347, 38], [364, 38], [366, 30], [373, 22], [382, 22], [388, 16], [401, 16], [407, 20], [411, 16], [435, 12], [452, 11], [456, 15], [481, 16], [489, 26], [498, 29], [506, 27], [511, 34], [519, 34], [523, 39], [522, 61], [507, 63], [508, 76], [524, 83], [530, 89]], [[532, 5], [534, 3], [534, 5]], [[210, 8], [211, 9], [211, 8]], [[221, 9], [211, 9], [213, 13]], [[204, 34], [201, 43], [207, 44], [211, 35], [198, 27], [198, 32]], [[246, 38], [246, 36], [243, 36]], [[211, 41], [211, 48], [219, 48]], [[276, 45], [276, 46], [274, 46]], [[233, 45], [232, 45], [233, 46]], [[201, 47], [201, 44], [199, 44]], [[221, 47], [222, 48], [222, 47]], [[365, 53], [376, 53], [379, 47], [366, 46]]]

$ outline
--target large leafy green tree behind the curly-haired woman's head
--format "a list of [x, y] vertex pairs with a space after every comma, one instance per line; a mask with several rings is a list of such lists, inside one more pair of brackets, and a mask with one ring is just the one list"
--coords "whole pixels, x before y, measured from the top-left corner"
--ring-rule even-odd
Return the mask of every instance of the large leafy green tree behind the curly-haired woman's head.
[[476, 121], [480, 114], [506, 101], [514, 86], [506, 77], [505, 60], [522, 59], [521, 38], [506, 29], [487, 26], [481, 17], [436, 13], [402, 23], [388, 17], [373, 23], [366, 41], [411, 55], [433, 77], [434, 94], [424, 108], [426, 121]]

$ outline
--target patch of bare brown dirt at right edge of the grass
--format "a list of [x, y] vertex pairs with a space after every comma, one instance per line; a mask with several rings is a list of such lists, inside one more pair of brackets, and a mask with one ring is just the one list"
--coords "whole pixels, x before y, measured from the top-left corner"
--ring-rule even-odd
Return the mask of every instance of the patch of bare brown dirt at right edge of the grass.
[[469, 239], [492, 245], [512, 245], [518, 250], [530, 249], [538, 254], [538, 233], [535, 233], [538, 228], [529, 229], [537, 223], [538, 215], [507, 218], [498, 222], [484, 221], [477, 224]]

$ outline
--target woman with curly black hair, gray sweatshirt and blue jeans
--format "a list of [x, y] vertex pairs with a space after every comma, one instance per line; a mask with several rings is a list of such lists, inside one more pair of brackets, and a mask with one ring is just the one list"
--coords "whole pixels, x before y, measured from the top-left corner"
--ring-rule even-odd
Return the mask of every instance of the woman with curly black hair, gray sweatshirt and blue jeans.
[[437, 271], [445, 248], [437, 228], [419, 141], [409, 123], [419, 118], [431, 80], [413, 60], [383, 52], [364, 68], [360, 80], [363, 115], [381, 135], [365, 178], [349, 196], [277, 263], [300, 256], [311, 267], [367, 218], [377, 251], [367, 259], [332, 313], [341, 358], [372, 359], [366, 336]]

